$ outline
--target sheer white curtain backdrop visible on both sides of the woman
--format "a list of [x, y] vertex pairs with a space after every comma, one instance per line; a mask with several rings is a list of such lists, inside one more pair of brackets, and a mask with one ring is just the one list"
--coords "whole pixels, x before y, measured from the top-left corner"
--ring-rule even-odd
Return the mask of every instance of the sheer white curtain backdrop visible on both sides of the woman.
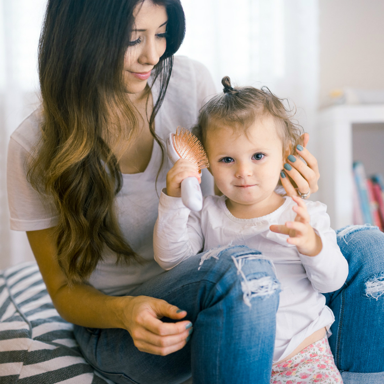
[[[298, 107], [316, 154], [318, 0], [181, 0], [186, 35], [178, 55], [204, 63], [217, 90], [267, 85]], [[0, 0], [0, 268], [32, 259], [25, 233], [10, 231], [9, 135], [38, 104], [36, 51], [46, 0]]]

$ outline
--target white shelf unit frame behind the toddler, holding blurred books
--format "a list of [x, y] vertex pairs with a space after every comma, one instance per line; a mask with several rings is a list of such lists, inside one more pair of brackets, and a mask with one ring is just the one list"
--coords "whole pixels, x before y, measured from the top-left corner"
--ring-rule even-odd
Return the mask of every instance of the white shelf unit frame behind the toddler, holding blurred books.
[[358, 123], [384, 123], [384, 105], [333, 106], [318, 114], [320, 195], [335, 229], [353, 223], [352, 125]]

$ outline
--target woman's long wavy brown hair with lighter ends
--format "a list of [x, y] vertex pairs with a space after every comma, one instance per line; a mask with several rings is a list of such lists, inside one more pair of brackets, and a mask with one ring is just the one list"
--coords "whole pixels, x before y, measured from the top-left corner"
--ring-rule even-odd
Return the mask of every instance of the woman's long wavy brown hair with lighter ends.
[[[179, 0], [166, 7], [167, 47], [155, 67], [160, 92], [149, 118], [154, 139], [170, 79], [173, 54], [185, 31]], [[41, 139], [27, 177], [59, 214], [57, 257], [69, 283], [86, 280], [109, 247], [126, 261], [138, 255], [124, 239], [114, 212], [122, 176], [111, 142], [131, 141], [137, 114], [123, 83], [124, 54], [142, 0], [49, 0], [38, 51]], [[148, 95], [149, 96], [149, 95]], [[147, 101], [148, 102], [148, 101]], [[164, 152], [163, 152], [164, 155]]]

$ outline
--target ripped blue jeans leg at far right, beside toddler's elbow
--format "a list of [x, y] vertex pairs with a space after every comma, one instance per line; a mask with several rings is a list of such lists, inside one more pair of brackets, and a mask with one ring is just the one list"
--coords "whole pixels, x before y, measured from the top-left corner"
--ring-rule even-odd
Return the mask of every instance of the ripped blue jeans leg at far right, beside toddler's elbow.
[[335, 321], [329, 345], [345, 384], [384, 383], [384, 233], [354, 225], [337, 231], [348, 261], [344, 286], [325, 294]]

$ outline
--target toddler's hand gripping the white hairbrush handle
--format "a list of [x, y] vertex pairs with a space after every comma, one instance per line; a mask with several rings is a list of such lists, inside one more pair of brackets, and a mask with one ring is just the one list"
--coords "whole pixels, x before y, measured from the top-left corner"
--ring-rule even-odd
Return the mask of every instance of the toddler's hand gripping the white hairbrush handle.
[[177, 160], [167, 173], [167, 195], [174, 198], [181, 197], [181, 181], [190, 176], [196, 177], [199, 183], [201, 182], [201, 174], [189, 160]]

